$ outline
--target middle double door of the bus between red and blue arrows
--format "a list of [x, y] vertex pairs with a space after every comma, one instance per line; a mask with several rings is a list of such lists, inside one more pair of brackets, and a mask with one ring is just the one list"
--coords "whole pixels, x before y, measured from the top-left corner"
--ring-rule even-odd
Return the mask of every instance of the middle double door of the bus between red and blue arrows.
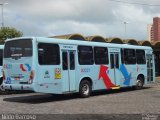
[[110, 53], [110, 70], [108, 72], [109, 77], [115, 85], [120, 85], [118, 79], [119, 79], [119, 53], [118, 52], [112, 52]]

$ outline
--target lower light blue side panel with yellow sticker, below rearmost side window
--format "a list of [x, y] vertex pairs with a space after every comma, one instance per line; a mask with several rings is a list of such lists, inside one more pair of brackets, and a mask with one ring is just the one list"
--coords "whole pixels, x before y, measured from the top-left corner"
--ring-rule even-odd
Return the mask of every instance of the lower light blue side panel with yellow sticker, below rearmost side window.
[[[37, 67], [38, 92], [43, 93], [62, 93], [62, 79], [61, 73], [59, 78], [56, 76], [57, 70], [60, 66], [40, 66]], [[59, 73], [58, 73], [59, 74]], [[57, 79], [56, 79], [57, 77]]]

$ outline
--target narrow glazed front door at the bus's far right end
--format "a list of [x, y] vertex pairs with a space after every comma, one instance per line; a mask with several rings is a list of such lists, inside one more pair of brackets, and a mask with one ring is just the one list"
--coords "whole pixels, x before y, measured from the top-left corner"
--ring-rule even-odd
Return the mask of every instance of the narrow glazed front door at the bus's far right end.
[[153, 82], [153, 59], [152, 54], [147, 54], [147, 82]]

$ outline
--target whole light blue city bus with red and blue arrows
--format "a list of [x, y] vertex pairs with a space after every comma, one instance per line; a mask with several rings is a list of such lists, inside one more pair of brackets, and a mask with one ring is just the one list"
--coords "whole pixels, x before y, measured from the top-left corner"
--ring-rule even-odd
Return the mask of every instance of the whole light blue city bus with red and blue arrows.
[[40, 93], [79, 93], [143, 88], [155, 81], [151, 47], [57, 38], [5, 42], [3, 87]]

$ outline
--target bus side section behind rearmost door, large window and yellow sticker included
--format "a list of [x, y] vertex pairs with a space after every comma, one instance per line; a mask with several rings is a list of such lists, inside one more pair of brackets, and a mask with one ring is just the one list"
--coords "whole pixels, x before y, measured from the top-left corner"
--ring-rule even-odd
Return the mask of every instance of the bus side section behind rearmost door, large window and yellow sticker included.
[[35, 65], [34, 89], [36, 92], [62, 93], [61, 64], [56, 63], [57, 57], [57, 61], [60, 62], [59, 56], [54, 57], [55, 53], [58, 54], [57, 48], [59, 48], [58, 45], [54, 43], [35, 43], [33, 62]]

